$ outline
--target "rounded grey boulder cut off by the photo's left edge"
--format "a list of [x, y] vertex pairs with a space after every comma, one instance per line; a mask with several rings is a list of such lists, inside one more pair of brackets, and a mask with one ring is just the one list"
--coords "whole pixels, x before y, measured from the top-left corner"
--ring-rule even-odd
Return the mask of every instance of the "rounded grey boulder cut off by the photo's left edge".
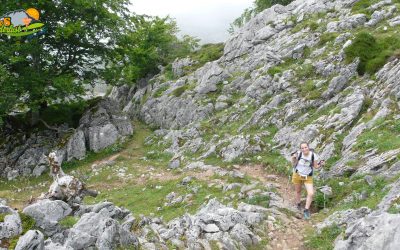
[[14, 209], [0, 205], [0, 214], [5, 215], [0, 222], [0, 240], [10, 239], [22, 233], [22, 223], [19, 214]]

